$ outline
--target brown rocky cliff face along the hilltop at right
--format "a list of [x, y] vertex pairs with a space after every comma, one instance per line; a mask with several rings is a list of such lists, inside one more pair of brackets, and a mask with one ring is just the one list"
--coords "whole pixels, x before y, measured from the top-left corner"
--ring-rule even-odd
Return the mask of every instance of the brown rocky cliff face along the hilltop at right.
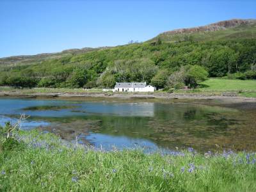
[[255, 23], [256, 23], [256, 20], [253, 20], [253, 19], [223, 20], [220, 22], [209, 24], [207, 26], [200, 26], [196, 28], [187, 28], [187, 29], [175, 29], [173, 31], [166, 31], [162, 34], [175, 35], [175, 34], [182, 34], [182, 33], [195, 33], [195, 32], [201, 32], [201, 31], [220, 31], [220, 30], [225, 30], [227, 28], [255, 24]]

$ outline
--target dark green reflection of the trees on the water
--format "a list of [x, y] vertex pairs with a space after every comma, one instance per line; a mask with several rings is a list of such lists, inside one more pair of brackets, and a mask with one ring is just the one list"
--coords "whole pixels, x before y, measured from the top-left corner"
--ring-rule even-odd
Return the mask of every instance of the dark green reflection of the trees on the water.
[[[143, 114], [147, 111], [145, 109], [142, 110]], [[136, 113], [139, 114], [140, 111]], [[236, 129], [241, 130], [244, 127], [239, 115], [241, 113], [221, 111], [211, 106], [155, 103], [153, 117], [94, 114], [65, 118], [65, 121], [72, 122], [81, 118], [83, 124], [83, 121], [92, 120], [90, 130], [93, 132], [146, 139], [159, 147], [189, 146], [206, 150], [213, 148], [215, 143], [241, 141], [234, 139], [234, 130], [237, 132]]]

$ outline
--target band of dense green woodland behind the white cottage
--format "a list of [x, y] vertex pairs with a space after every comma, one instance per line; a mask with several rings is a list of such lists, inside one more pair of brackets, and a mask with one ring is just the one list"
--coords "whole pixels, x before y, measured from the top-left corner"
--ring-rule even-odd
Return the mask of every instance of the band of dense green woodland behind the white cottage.
[[256, 78], [256, 40], [145, 42], [0, 68], [3, 86], [111, 88], [147, 82], [157, 88], [195, 87], [208, 77]]

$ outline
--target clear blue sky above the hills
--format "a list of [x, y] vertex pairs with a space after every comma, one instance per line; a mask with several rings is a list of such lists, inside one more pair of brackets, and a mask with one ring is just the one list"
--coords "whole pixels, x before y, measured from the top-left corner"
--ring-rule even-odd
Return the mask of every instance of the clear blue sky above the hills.
[[127, 44], [163, 31], [256, 19], [256, 1], [1, 0], [0, 57]]

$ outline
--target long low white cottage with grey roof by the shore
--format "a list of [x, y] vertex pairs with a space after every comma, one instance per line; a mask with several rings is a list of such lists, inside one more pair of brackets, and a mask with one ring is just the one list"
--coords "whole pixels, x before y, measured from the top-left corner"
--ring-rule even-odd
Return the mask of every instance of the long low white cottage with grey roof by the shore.
[[114, 92], [154, 92], [156, 88], [147, 83], [118, 83], [116, 82]]

